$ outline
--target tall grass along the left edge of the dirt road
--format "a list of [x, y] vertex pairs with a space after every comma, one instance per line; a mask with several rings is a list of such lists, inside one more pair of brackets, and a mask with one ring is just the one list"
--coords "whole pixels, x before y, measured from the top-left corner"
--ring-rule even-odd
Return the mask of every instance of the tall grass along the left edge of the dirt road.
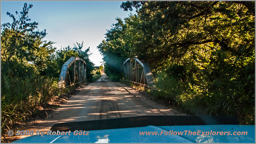
[[65, 89], [57, 87], [56, 78], [10, 77], [1, 75], [1, 131], [10, 130], [45, 107], [53, 96], [60, 96]]

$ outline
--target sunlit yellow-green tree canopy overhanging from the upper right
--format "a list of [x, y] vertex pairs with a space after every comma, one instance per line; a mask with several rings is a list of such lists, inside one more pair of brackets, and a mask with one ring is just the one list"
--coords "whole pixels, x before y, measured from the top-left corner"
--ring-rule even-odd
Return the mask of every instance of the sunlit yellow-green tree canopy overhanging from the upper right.
[[[126, 2], [124, 10], [132, 3]], [[218, 1], [145, 3], [138, 10], [140, 23], [137, 25], [144, 38], [135, 44], [134, 51], [140, 51], [138, 57], [147, 58], [150, 63], [163, 65], [168, 58], [179, 60], [193, 45], [216, 43], [222, 50], [236, 55], [241, 54], [239, 51], [243, 47], [253, 48], [254, 16], [243, 4]]]

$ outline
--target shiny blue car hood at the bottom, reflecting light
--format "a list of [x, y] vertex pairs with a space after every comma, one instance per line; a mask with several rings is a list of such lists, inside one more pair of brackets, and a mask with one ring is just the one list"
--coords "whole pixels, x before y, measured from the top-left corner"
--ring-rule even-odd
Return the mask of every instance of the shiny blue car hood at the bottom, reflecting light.
[[[213, 133], [185, 135], [184, 131], [189, 130], [191, 132], [229, 131], [230, 135], [213, 135]], [[183, 134], [174, 135], [175, 131], [183, 131]], [[157, 134], [143, 135], [143, 132], [157, 132]], [[234, 132], [247, 132], [247, 135], [233, 135]], [[33, 135], [13, 143], [255, 143], [254, 125], [146, 126], [92, 130], [88, 134], [74, 135], [74, 132], [71, 132], [70, 135]]]

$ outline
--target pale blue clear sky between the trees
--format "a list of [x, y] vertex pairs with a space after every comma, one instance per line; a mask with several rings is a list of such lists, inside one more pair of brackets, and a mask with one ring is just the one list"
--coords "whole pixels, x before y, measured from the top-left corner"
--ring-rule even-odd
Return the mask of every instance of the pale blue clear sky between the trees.
[[104, 34], [116, 17], [124, 19], [131, 13], [120, 8], [122, 1], [1, 1], [1, 24], [12, 23], [6, 12], [18, 17], [15, 11], [20, 13], [24, 3], [33, 5], [28, 18], [38, 23], [39, 31], [46, 30], [44, 40], [55, 42], [57, 49], [84, 41], [82, 50], [90, 47], [89, 58], [95, 66], [103, 61], [97, 46]]

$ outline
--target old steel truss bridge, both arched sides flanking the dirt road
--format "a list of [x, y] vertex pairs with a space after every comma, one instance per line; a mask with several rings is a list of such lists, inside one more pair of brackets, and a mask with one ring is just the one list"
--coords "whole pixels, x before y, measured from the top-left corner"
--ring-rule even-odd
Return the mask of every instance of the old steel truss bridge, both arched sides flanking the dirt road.
[[[127, 58], [122, 66], [124, 80], [154, 88], [154, 80], [149, 65], [145, 61], [137, 58]], [[82, 58], [71, 57], [62, 65], [59, 87], [68, 87], [86, 81], [86, 63]]]

